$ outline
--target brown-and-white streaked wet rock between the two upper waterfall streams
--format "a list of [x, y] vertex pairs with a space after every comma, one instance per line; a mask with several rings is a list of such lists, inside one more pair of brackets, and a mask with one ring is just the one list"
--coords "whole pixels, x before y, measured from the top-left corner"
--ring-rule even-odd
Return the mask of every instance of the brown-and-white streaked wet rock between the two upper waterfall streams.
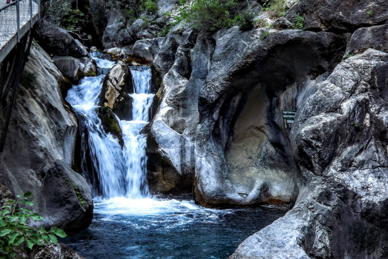
[[100, 94], [100, 106], [106, 106], [120, 118], [132, 119], [132, 76], [127, 65], [119, 61], [107, 74]]

